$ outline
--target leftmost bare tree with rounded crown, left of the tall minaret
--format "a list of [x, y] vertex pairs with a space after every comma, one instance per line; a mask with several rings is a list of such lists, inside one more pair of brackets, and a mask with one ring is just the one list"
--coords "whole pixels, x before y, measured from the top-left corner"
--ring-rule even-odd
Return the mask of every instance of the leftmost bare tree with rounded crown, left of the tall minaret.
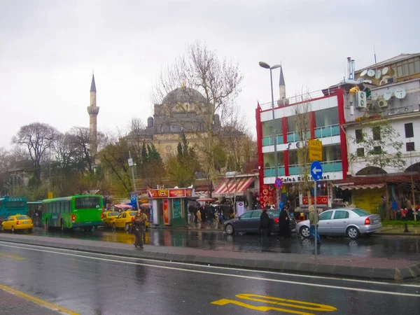
[[34, 163], [34, 176], [38, 184], [41, 183], [41, 159], [57, 134], [55, 127], [48, 124], [31, 123], [20, 127], [18, 134], [12, 139], [13, 144], [27, 147], [29, 157]]

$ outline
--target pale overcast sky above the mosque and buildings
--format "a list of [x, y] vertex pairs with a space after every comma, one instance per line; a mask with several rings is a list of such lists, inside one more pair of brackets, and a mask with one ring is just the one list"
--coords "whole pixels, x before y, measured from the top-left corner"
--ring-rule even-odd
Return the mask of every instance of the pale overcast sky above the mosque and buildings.
[[[160, 70], [201, 41], [239, 63], [236, 102], [255, 135], [257, 102], [270, 102], [269, 71], [282, 64], [286, 94], [334, 85], [346, 71], [420, 52], [420, 1], [0, 0], [0, 146], [22, 125], [60, 132], [89, 125], [92, 71], [98, 130], [146, 123]], [[278, 97], [279, 69], [273, 71]], [[180, 83], [181, 85], [181, 83]]]

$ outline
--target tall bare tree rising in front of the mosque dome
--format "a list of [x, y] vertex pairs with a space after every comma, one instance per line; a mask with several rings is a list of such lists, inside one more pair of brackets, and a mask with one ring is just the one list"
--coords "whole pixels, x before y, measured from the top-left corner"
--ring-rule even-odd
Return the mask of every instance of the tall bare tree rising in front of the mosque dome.
[[162, 71], [153, 94], [155, 104], [162, 104], [169, 92], [179, 89], [180, 97], [169, 100], [172, 104], [162, 104], [167, 125], [193, 134], [188, 139], [197, 146], [201, 165], [212, 180], [219, 174], [220, 126], [232, 113], [242, 79], [237, 64], [219, 59], [216, 52], [197, 42], [187, 45], [185, 55]]

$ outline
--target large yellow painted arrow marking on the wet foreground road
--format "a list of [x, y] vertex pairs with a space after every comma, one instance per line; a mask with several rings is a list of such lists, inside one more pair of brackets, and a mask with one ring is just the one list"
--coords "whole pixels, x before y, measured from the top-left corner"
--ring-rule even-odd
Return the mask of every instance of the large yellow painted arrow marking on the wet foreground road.
[[[317, 303], [311, 303], [311, 302], [302, 302], [302, 301], [297, 301], [297, 300], [288, 300], [281, 297], [271, 297], [271, 296], [266, 296], [266, 295], [244, 294], [244, 293], [237, 294], [236, 297], [238, 297], [239, 299], [251, 300], [255, 302], [281, 305], [283, 307], [294, 307], [295, 309], [305, 309], [305, 310], [311, 310], [311, 311], [337, 311], [335, 307], [332, 307], [330, 305], [317, 304]], [[221, 306], [226, 305], [226, 304], [236, 304], [240, 307], [245, 307], [247, 309], [254, 309], [255, 311], [283, 311], [283, 312], [292, 313], [292, 314], [313, 315], [312, 313], [307, 313], [304, 311], [282, 309], [282, 308], [273, 307], [273, 306], [255, 306], [252, 304], [239, 302], [237, 300], [228, 300], [228, 299], [217, 300], [217, 301], [211, 302], [211, 304], [216, 304], [216, 305], [221, 305]]]

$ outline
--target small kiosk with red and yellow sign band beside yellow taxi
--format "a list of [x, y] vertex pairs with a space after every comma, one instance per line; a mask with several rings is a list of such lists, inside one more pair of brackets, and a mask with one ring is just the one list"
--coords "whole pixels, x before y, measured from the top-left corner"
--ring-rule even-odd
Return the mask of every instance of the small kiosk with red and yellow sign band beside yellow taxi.
[[187, 205], [193, 197], [193, 188], [151, 189], [148, 197], [153, 205], [153, 224], [174, 227], [187, 224]]

